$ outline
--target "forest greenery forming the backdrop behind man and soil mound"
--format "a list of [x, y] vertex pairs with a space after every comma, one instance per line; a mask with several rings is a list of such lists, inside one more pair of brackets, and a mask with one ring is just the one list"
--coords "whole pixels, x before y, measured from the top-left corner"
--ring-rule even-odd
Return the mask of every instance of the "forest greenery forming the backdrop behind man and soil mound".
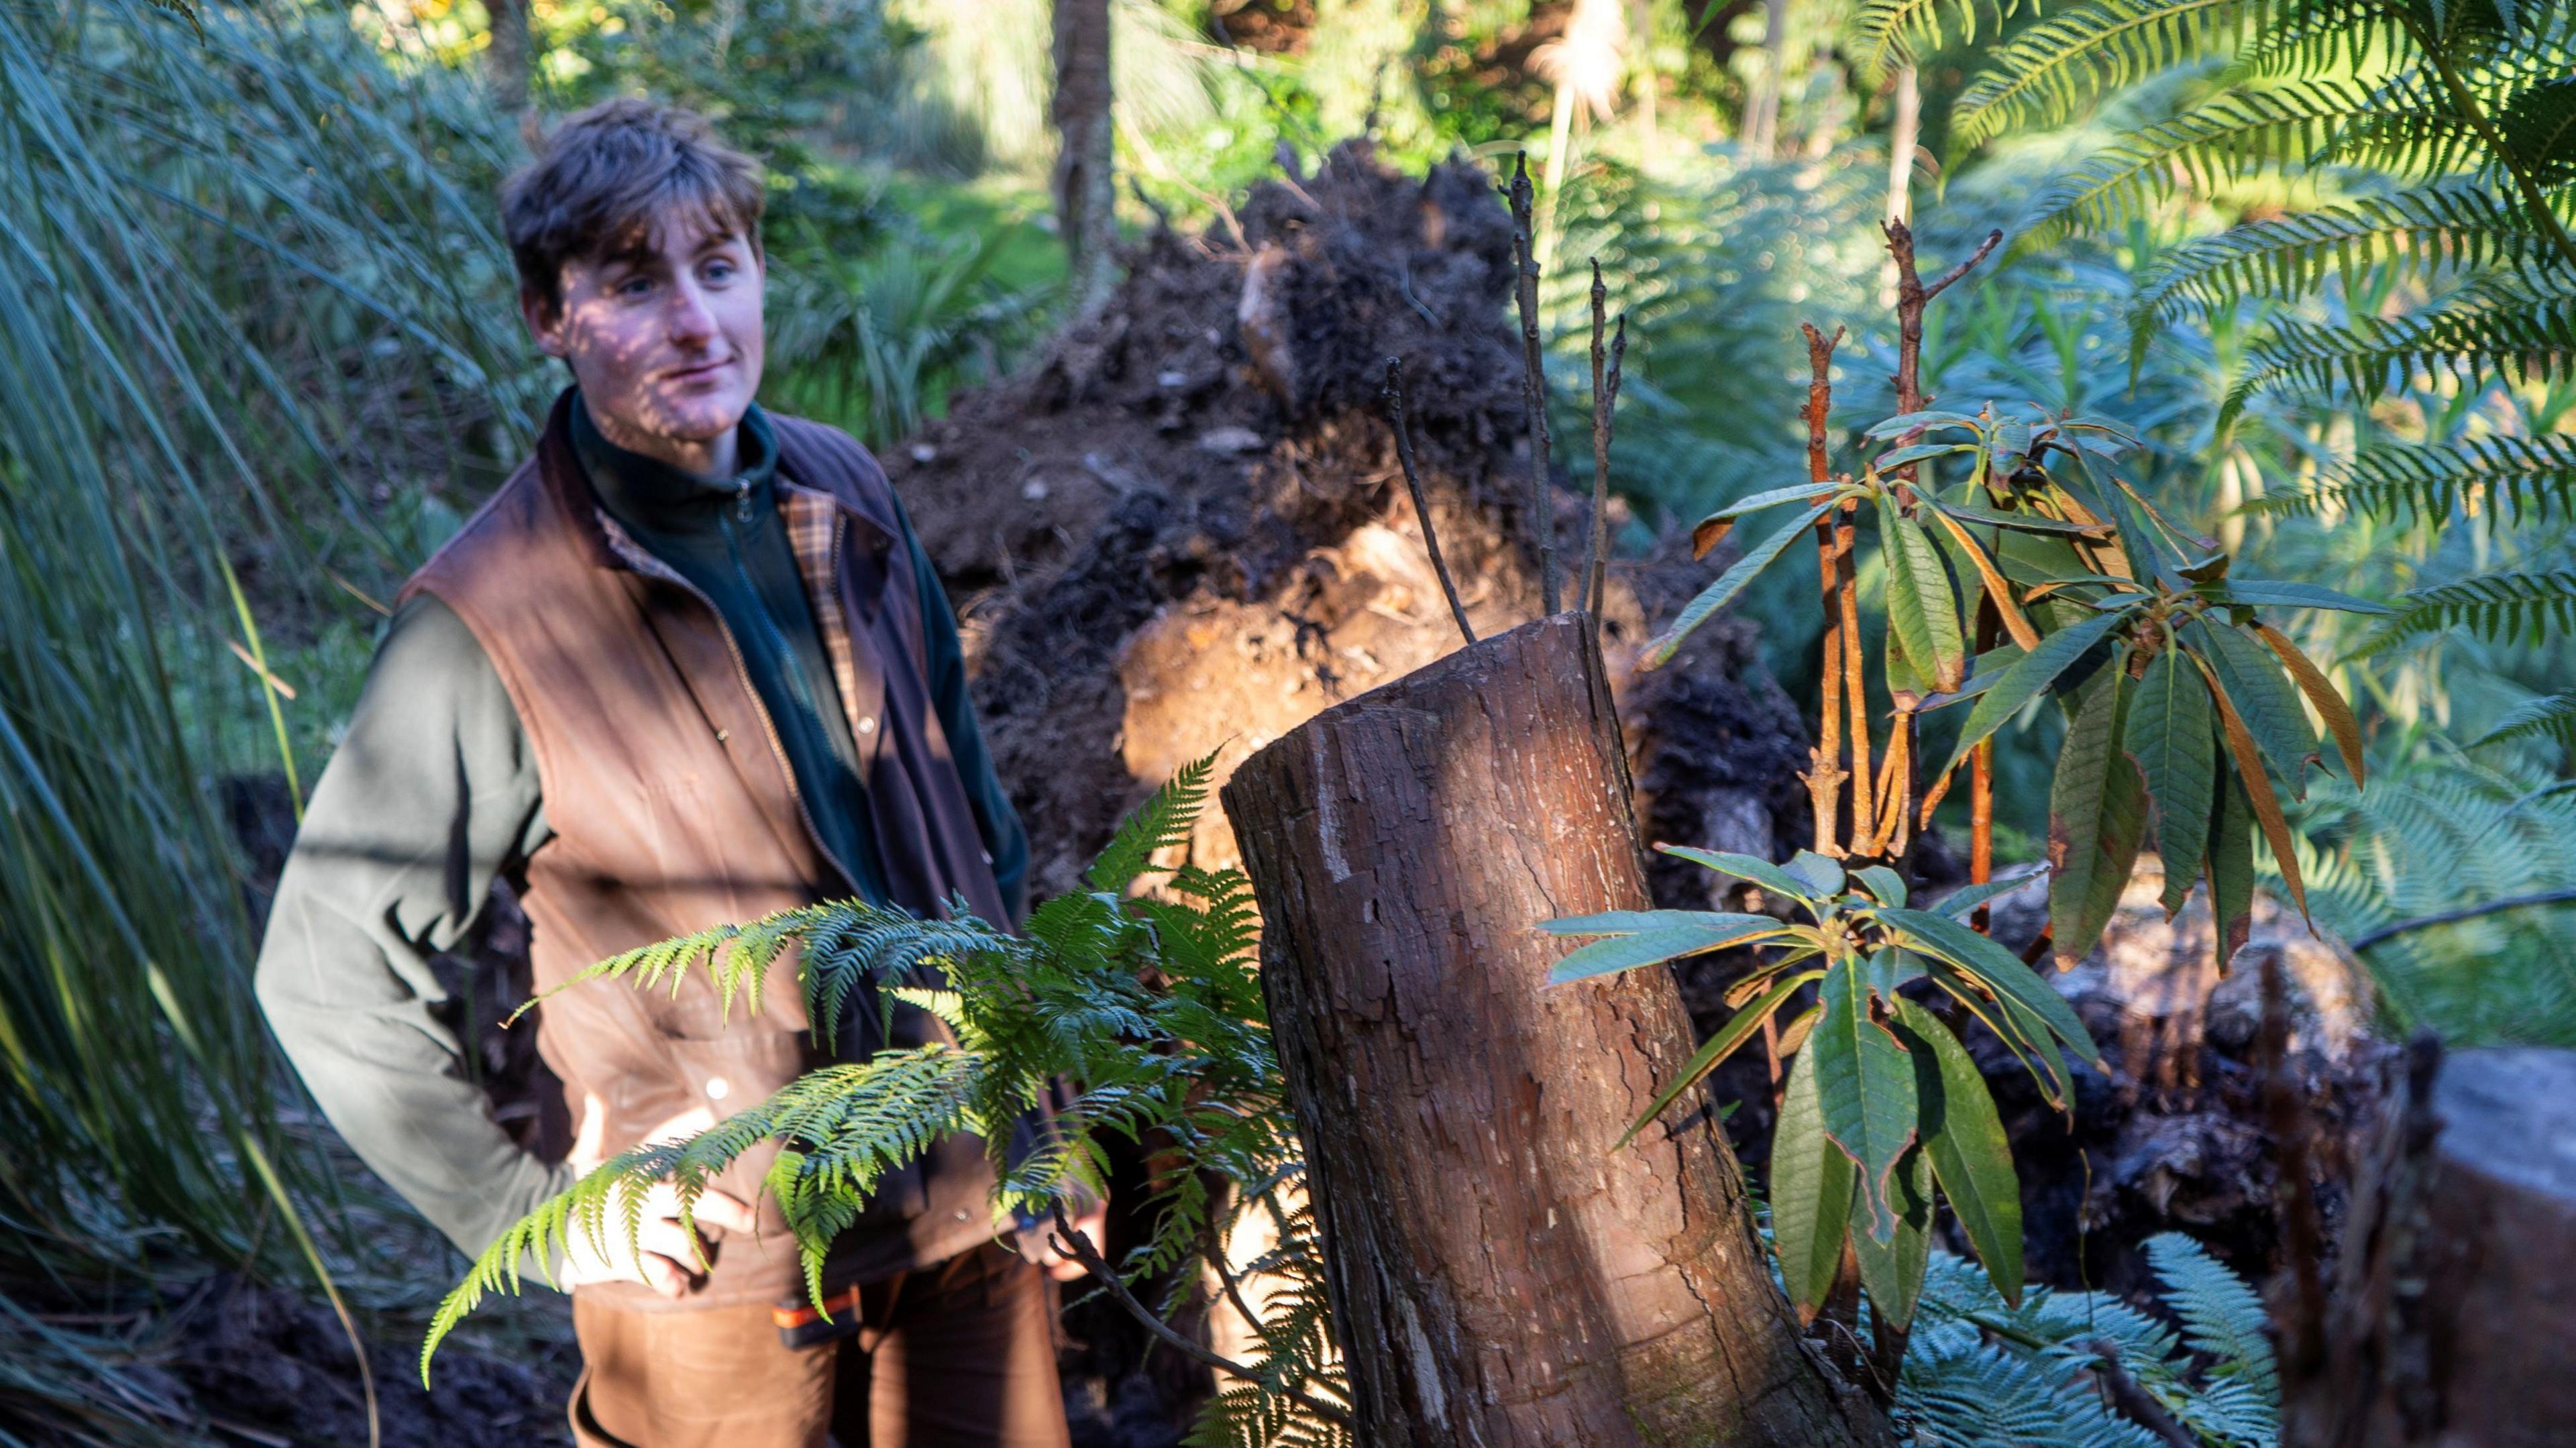
[[[456, 1275], [281, 1069], [245, 884], [330, 757], [381, 603], [556, 386], [492, 222], [526, 126], [652, 93], [765, 155], [765, 402], [871, 446], [1072, 307], [1041, 0], [497, 5], [0, 0], [0, 1430], [167, 1440], [155, 1363], [209, 1273], [327, 1268], [332, 1306], [394, 1340]], [[2391, 1033], [2576, 1046], [2576, 657], [2543, 631], [2576, 590], [2568, 317], [2519, 368], [2275, 368], [2239, 394], [2285, 335], [2429, 314], [2478, 278], [2401, 265], [2403, 227], [2202, 265], [2197, 291], [2172, 263], [2421, 167], [2174, 162], [2089, 224], [2035, 227], [2089, 157], [2239, 85], [2241, 57], [2148, 44], [1960, 134], [1958, 98], [2045, 21], [1989, 10], [1888, 57], [1857, 41], [1873, 10], [1115, 0], [1121, 224], [1221, 229], [1283, 157], [1355, 134], [1414, 170], [1530, 152], [1553, 376], [1587, 374], [1584, 258], [1631, 317], [1610, 453], [1631, 551], [1801, 477], [1798, 322], [1852, 332], [1837, 423], [1893, 412], [1880, 216], [1909, 211], [1929, 258], [2002, 227], [1932, 312], [1924, 386], [2117, 420], [2156, 502], [2244, 567], [2401, 611], [2293, 629], [2360, 709], [2372, 773], [2293, 804], [2316, 917], [2372, 969]], [[1553, 405], [1582, 474], [1589, 397]], [[2483, 490], [2365, 508], [2372, 448], [2401, 472], [2504, 461]], [[2496, 575], [2540, 582], [2460, 593]], [[1790, 567], [1736, 605], [1795, 698], [1814, 587]], [[2056, 729], [2025, 711], [2002, 734], [2007, 861], [2043, 850]], [[474, 1332], [554, 1335], [536, 1309]]]

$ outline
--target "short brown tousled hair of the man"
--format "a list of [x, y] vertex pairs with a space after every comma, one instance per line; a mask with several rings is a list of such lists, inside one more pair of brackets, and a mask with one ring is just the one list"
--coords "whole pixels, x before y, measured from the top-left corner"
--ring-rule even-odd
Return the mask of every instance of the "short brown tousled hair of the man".
[[696, 111], [603, 100], [554, 129], [500, 188], [500, 222], [518, 286], [549, 309], [564, 301], [564, 263], [611, 260], [652, 240], [675, 209], [698, 206], [760, 247], [760, 162], [716, 139]]

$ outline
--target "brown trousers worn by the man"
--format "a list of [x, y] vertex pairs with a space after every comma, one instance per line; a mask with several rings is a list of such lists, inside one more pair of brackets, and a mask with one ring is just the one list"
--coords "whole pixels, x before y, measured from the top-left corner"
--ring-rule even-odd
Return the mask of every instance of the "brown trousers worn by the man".
[[572, 1299], [582, 1448], [1069, 1448], [1046, 1278], [1002, 1247], [860, 1291], [858, 1337], [778, 1340], [770, 1309]]

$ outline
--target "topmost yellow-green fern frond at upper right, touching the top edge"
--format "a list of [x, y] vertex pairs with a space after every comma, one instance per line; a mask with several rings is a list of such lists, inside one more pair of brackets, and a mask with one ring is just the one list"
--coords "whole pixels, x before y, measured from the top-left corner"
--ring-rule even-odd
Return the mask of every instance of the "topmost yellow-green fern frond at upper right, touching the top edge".
[[2249, 0], [2092, 0], [1999, 46], [1953, 103], [1950, 134], [1976, 147], [2058, 121], [2102, 90], [2221, 49], [2259, 13]]

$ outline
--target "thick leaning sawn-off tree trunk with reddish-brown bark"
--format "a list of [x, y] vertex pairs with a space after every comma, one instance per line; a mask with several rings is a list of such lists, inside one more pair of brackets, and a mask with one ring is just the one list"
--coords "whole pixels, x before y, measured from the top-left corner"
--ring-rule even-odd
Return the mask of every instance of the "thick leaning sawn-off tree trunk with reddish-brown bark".
[[1883, 1443], [1798, 1337], [1672, 976], [1546, 987], [1533, 925], [1646, 910], [1582, 613], [1301, 724], [1224, 791], [1360, 1443]]

